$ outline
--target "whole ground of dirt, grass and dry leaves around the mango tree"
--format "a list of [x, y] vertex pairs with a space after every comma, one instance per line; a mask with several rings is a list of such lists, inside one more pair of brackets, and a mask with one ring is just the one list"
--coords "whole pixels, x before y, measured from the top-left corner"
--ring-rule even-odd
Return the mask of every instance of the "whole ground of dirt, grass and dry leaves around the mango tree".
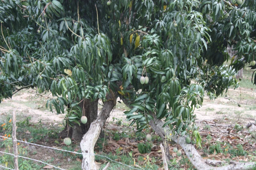
[[[241, 88], [229, 89], [227, 93], [219, 96], [216, 100], [207, 99], [205, 96], [203, 106], [195, 110], [196, 124], [199, 126], [203, 139], [203, 149], [198, 148], [198, 152], [204, 159], [227, 162], [230, 160], [256, 161], [256, 132], [250, 132], [247, 128], [249, 123], [255, 123], [256, 120], [256, 86], [251, 83], [251, 75], [252, 72], [246, 68], [244, 78], [240, 82]], [[0, 128], [0, 135], [11, 135], [9, 125], [12, 122], [9, 123], [9, 120], [12, 117], [13, 109], [16, 109], [17, 138], [19, 140], [80, 152], [79, 143], [76, 141], [67, 147], [58, 138], [57, 134], [64, 128], [63, 118], [65, 115], [57, 115], [55, 111], [52, 113], [45, 108], [48, 97], [51, 97], [49, 93], [39, 95], [34, 89], [28, 89], [16, 93], [12, 99], [4, 99], [0, 104], [0, 125], [6, 123], [3, 126], [6, 128], [5, 130], [3, 127]], [[98, 111], [102, 108], [100, 103]], [[125, 110], [128, 108], [122, 102], [117, 102], [104, 129], [106, 132], [105, 142], [104, 138], [98, 140], [94, 148], [95, 153], [133, 167], [135, 167], [135, 161], [136, 166], [143, 169], [162, 168], [160, 152], [162, 139], [152, 129], [136, 134], [136, 127], [129, 127], [130, 122], [126, 121], [123, 116]], [[146, 142], [145, 136], [148, 133], [152, 134], [151, 142]], [[11, 141], [4, 141], [3, 138], [0, 138], [0, 151], [12, 153], [11, 146]], [[193, 169], [184, 152], [181, 157], [178, 157], [172, 151], [173, 147], [179, 146], [174, 143], [170, 143], [170, 146], [169, 151], [172, 156], [170, 169]], [[148, 153], [140, 153], [147, 147], [149, 148]], [[18, 149], [19, 153], [25, 157], [41, 160], [63, 169], [81, 169], [80, 155], [23, 143], [20, 143]], [[130, 151], [132, 151], [132, 158], [128, 154]], [[1, 153], [0, 155], [0, 164], [13, 168], [12, 157]], [[109, 160], [106, 157], [95, 156], [95, 161], [98, 169], [103, 169]], [[26, 159], [19, 159], [19, 163], [23, 163], [23, 169], [42, 169], [44, 166]], [[125, 170], [129, 168], [111, 162], [109, 169]]]

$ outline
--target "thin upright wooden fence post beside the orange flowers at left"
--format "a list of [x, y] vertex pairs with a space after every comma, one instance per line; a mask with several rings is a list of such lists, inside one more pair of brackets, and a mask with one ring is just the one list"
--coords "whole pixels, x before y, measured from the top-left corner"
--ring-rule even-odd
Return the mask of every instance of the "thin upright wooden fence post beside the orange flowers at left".
[[17, 149], [17, 139], [16, 139], [16, 110], [13, 110], [12, 112], [12, 142], [13, 142], [13, 152], [14, 152], [14, 167], [15, 167], [15, 170], [19, 170], [18, 149]]

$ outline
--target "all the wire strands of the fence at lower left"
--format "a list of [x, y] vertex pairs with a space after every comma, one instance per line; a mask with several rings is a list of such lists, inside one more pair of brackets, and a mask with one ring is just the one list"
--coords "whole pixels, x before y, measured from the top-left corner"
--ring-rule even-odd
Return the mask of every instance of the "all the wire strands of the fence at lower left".
[[[12, 138], [9, 138], [9, 137], [5, 137], [5, 136], [0, 136], [0, 137], [3, 137], [3, 138], [6, 138], [6, 139], [9, 139], [9, 140], [12, 140]], [[35, 144], [35, 143], [30, 143], [30, 142], [23, 141], [23, 140], [16, 140], [16, 141], [23, 142], [23, 143], [30, 144], [30, 145], [39, 146], [39, 147], [44, 147], [44, 148], [48, 148], [48, 149], [60, 150], [60, 151], [64, 151], [64, 152], [70, 152], [70, 153], [75, 153], [75, 154], [83, 155], [83, 153], [74, 152], [74, 151], [69, 151], [69, 150], [64, 150], [64, 149], [58, 149], [58, 148], [52, 148], [52, 147], [43, 146], [43, 145], [38, 145], [38, 144]], [[0, 153], [9, 154], [9, 155], [14, 156], [14, 154], [7, 153], [7, 152], [2, 152], [2, 151], [0, 151]], [[109, 157], [107, 157], [107, 156], [104, 156], [104, 155], [99, 155], [99, 154], [94, 154], [94, 153], [93, 153], [93, 154], [92, 154], [92, 153], [84, 153], [84, 154], [85, 154], [85, 155], [91, 155], [91, 156], [100, 156], [100, 157], [104, 157], [104, 158], [107, 158], [108, 160], [110, 160], [110, 161], [112, 161], [112, 162], [119, 163], [119, 164], [121, 164], [121, 165], [127, 166], [127, 167], [129, 167], [130, 169], [142, 170], [142, 169], [135, 168], [135, 167], [132, 167], [132, 166], [130, 166], [130, 165], [127, 165], [127, 164], [124, 164], [124, 163], [121, 163], [121, 162], [117, 162], [117, 161], [112, 160], [111, 158], [109, 158]], [[51, 164], [48, 164], [48, 163], [45, 163], [45, 162], [43, 162], [43, 161], [39, 161], [39, 160], [36, 160], [36, 159], [31, 159], [31, 158], [27, 158], [27, 157], [23, 157], [23, 156], [19, 156], [19, 155], [18, 155], [18, 157], [21, 157], [21, 158], [24, 158], [24, 159], [29, 159], [29, 160], [32, 160], [32, 161], [37, 161], [37, 162], [44, 163], [44, 164], [46, 164], [46, 165], [52, 166], [52, 167], [57, 168], [57, 169], [65, 170], [65, 169], [56, 167], [56, 166], [54, 166], [54, 165], [51, 165]], [[0, 167], [4, 167], [4, 166], [1, 166], [1, 165], [0, 165]], [[10, 169], [10, 168], [7, 168], [7, 167], [4, 167], [4, 168]], [[13, 170], [14, 170], [14, 169], [13, 169]]]

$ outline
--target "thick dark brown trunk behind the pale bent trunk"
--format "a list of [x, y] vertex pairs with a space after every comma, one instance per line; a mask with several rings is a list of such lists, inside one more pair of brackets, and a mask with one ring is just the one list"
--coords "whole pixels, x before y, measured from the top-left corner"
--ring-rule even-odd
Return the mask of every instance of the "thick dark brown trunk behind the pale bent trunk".
[[80, 141], [84, 134], [89, 130], [91, 123], [97, 119], [98, 116], [98, 100], [92, 101], [90, 99], [84, 99], [79, 106], [82, 109], [83, 116], [87, 117], [87, 123], [83, 124], [80, 122], [81, 126], [75, 124], [74, 127], [69, 127], [67, 125], [64, 130], [60, 132], [59, 137], [62, 139], [65, 137], [73, 138], [76, 141]]

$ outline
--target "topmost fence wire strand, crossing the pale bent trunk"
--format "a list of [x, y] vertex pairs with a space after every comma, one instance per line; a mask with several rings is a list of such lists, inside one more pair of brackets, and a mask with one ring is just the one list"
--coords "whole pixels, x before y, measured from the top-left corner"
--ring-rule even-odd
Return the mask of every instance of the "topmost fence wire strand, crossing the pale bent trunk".
[[[1, 137], [12, 140], [12, 138], [9, 138], [9, 137], [5, 137], [5, 136], [1, 136]], [[35, 144], [35, 143], [25, 142], [25, 141], [23, 141], [23, 140], [17, 140], [17, 141], [23, 142], [23, 143], [27, 143], [27, 144], [31, 144], [31, 145], [35, 145], [35, 146], [44, 147], [44, 148], [55, 149], [55, 150], [60, 150], [60, 151], [64, 151], [64, 152], [70, 152], [70, 153], [75, 153], [75, 154], [83, 155], [82, 153], [79, 153], [79, 152], [74, 152], [74, 151], [69, 151], [69, 150], [64, 150], [64, 149], [58, 149], [58, 148], [47, 147], [47, 146], [38, 145], [38, 144]], [[98, 154], [92, 154], [92, 153], [84, 153], [84, 154], [85, 154], [85, 155], [91, 155], [91, 156], [100, 156], [100, 157], [104, 157], [104, 158], [109, 159], [109, 160], [112, 161], [112, 162], [119, 163], [119, 164], [122, 164], [122, 165], [124, 165], [124, 166], [128, 166], [129, 168], [141, 170], [141, 169], [132, 167], [132, 166], [130, 166], [130, 165], [127, 165], [127, 164], [124, 164], [124, 163], [121, 163], [121, 162], [114, 161], [114, 160], [112, 160], [111, 158], [109, 158], [109, 157], [107, 157], [107, 156], [104, 156], [104, 155], [98, 155]], [[52, 166], [52, 165], [50, 165], [50, 166]]]

